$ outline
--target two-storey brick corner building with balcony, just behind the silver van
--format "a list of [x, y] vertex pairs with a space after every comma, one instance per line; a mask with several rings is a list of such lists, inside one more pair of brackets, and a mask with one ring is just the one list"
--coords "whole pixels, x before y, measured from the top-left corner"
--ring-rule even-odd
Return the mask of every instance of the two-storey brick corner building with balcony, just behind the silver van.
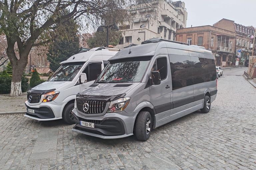
[[211, 50], [218, 66], [232, 64], [232, 58], [235, 57], [235, 39], [235, 33], [210, 25], [178, 29], [176, 32], [176, 41], [204, 46]]

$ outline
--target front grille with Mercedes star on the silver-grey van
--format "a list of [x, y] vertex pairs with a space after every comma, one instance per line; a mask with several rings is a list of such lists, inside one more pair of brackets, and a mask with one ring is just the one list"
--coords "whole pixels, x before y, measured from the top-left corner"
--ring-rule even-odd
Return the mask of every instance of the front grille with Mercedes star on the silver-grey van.
[[106, 107], [106, 102], [93, 101], [93, 100], [77, 100], [76, 107], [77, 107], [77, 110], [85, 114], [98, 114], [98, 113], [103, 113]]

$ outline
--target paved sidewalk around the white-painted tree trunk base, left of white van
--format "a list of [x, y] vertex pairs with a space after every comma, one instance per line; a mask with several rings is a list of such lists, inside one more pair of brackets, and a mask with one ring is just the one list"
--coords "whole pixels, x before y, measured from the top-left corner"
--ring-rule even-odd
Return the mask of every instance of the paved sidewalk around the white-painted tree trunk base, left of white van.
[[25, 101], [27, 93], [22, 96], [10, 97], [10, 94], [0, 95], [0, 114], [25, 113], [27, 111]]

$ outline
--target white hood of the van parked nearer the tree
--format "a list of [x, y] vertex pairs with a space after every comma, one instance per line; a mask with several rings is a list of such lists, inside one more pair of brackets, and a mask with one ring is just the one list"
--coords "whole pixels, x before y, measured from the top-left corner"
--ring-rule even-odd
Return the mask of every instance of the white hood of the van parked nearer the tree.
[[51, 90], [58, 89], [61, 86], [68, 84], [70, 81], [45, 81], [36, 87], [33, 87], [31, 90]]

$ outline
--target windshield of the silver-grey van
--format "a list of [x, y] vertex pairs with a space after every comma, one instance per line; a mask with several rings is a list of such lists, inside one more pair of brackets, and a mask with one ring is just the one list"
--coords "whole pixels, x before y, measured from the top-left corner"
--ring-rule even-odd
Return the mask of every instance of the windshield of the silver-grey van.
[[148, 60], [109, 63], [94, 83], [140, 82], [149, 62]]

